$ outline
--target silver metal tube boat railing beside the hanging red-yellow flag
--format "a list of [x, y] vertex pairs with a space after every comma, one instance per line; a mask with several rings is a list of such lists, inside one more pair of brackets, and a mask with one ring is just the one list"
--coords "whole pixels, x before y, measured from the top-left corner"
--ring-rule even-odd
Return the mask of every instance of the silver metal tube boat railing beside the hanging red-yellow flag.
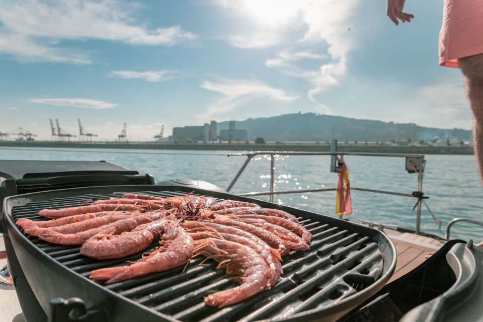
[[[379, 193], [379, 194], [388, 194], [393, 196], [401, 196], [401, 197], [410, 197], [410, 198], [417, 198], [417, 212], [416, 212], [416, 229], [415, 232], [417, 234], [420, 233], [420, 224], [421, 224], [421, 207], [422, 203], [424, 202], [424, 193], [423, 193], [423, 172], [424, 172], [424, 165], [425, 165], [425, 158], [424, 154], [405, 154], [405, 153], [365, 153], [365, 152], [292, 152], [292, 151], [258, 151], [252, 153], [230, 153], [228, 156], [247, 156], [245, 163], [241, 166], [238, 170], [237, 174], [229, 184], [226, 191], [230, 192], [233, 188], [235, 183], [238, 181], [241, 174], [245, 171], [250, 161], [258, 156], [258, 155], [269, 155], [270, 156], [270, 191], [262, 191], [262, 192], [250, 192], [250, 193], [241, 193], [238, 194], [240, 196], [270, 196], [270, 202], [273, 202], [274, 195], [284, 195], [284, 194], [300, 194], [300, 193], [308, 193], [308, 192], [325, 192], [325, 191], [336, 191], [337, 188], [321, 188], [321, 189], [298, 189], [298, 190], [274, 190], [274, 169], [275, 169], [275, 156], [278, 155], [304, 155], [304, 156], [320, 156], [326, 155], [331, 156], [331, 172], [339, 172], [340, 166], [344, 161], [344, 156], [379, 156], [379, 157], [404, 157], [406, 158], [406, 170], [410, 173], [418, 173], [418, 190], [406, 193], [406, 192], [395, 192], [395, 191], [385, 191], [385, 190], [377, 190], [377, 189], [369, 189], [369, 188], [360, 188], [360, 187], [351, 187], [351, 190], [357, 191], [364, 191], [364, 192], [371, 192], [371, 193]], [[408, 168], [408, 165], [410, 168]]]

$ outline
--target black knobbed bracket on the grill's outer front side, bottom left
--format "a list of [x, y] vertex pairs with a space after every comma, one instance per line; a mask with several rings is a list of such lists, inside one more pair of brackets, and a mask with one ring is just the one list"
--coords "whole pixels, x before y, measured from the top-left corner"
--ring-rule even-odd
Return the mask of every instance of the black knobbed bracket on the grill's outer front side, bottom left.
[[66, 300], [56, 297], [50, 301], [48, 322], [109, 322], [110, 320], [107, 311], [88, 309], [86, 302], [78, 297]]

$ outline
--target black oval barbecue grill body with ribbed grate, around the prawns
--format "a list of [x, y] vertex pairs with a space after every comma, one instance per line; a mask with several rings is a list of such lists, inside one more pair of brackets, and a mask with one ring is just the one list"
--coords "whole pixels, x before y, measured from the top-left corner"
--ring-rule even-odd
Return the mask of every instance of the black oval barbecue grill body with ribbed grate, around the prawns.
[[[54, 246], [24, 235], [14, 224], [22, 217], [38, 218], [36, 213], [43, 208], [67, 207], [85, 199], [119, 197], [125, 192], [163, 197], [194, 192], [218, 199], [255, 202], [299, 217], [314, 238], [309, 251], [283, 258], [285, 272], [272, 289], [218, 309], [205, 306], [203, 297], [236, 283], [224, 275], [224, 270], [215, 270], [212, 261], [200, 266], [202, 259], [194, 259], [186, 268], [104, 286], [88, 278], [93, 269], [136, 260], [140, 254], [127, 259], [97, 261], [80, 255], [79, 247]], [[265, 201], [189, 187], [104, 186], [29, 193], [8, 197], [3, 213], [13, 247], [8, 250], [9, 260], [16, 255], [26, 282], [51, 319], [55, 315], [52, 299], [79, 297], [91, 316], [102, 320], [333, 321], [382, 288], [396, 261], [393, 244], [378, 230]], [[155, 244], [146, 251], [154, 247]], [[14, 269], [12, 273], [15, 280]]]

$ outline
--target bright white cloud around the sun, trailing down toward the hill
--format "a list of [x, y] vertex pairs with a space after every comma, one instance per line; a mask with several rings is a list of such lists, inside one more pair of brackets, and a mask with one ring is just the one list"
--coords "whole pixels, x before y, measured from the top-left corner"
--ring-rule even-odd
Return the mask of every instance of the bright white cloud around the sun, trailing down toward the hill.
[[[257, 33], [230, 36], [228, 40], [237, 47], [243, 47], [243, 44], [252, 44], [244, 48], [284, 44], [287, 37], [294, 37], [293, 33], [287, 32], [287, 26], [297, 21], [302, 23], [305, 26], [303, 34], [292, 39], [290, 47], [282, 50], [277, 57], [268, 59], [265, 65], [294, 77], [306, 78], [311, 85], [308, 98], [319, 111], [329, 113], [329, 109], [318, 102], [316, 96], [331, 86], [339, 85], [347, 73], [349, 54], [357, 39], [356, 33], [349, 31], [349, 28], [360, 3], [360, 0], [243, 0], [218, 2], [218, 5], [235, 10], [260, 26], [269, 26], [270, 37], [266, 37], [265, 41], [263, 35]], [[233, 39], [240, 43], [233, 42]], [[319, 48], [319, 52], [305, 50], [314, 46]], [[325, 61], [316, 70], [306, 70], [298, 63], [302, 59]]]

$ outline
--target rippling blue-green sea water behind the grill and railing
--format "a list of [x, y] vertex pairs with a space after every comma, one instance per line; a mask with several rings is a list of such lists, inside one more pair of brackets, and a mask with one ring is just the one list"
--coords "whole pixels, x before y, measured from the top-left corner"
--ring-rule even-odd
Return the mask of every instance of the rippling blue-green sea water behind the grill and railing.
[[[0, 148], [0, 159], [22, 160], [105, 160], [151, 174], [157, 181], [191, 178], [228, 187], [247, 156], [227, 156], [239, 151]], [[405, 159], [399, 157], [345, 156], [352, 187], [409, 193], [418, 189], [418, 175], [408, 174]], [[438, 229], [423, 206], [421, 230], [444, 235], [455, 217], [483, 221], [483, 191], [473, 155], [426, 155], [423, 191], [427, 205], [441, 219]], [[330, 173], [330, 156], [275, 156], [274, 181], [277, 190], [337, 187], [338, 175]], [[270, 156], [257, 156], [234, 185], [231, 193], [270, 190]], [[350, 221], [368, 220], [414, 229], [416, 198], [352, 191]], [[274, 202], [329, 216], [335, 215], [334, 191], [276, 195]], [[268, 200], [268, 196], [257, 197]], [[483, 227], [457, 223], [451, 238], [483, 240]]]

